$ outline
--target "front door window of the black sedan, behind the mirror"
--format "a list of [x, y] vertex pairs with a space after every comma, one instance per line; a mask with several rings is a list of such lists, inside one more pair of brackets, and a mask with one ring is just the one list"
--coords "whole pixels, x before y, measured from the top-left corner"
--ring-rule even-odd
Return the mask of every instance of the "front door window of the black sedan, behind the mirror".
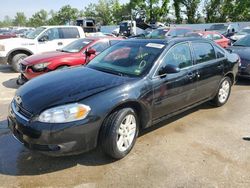
[[188, 43], [179, 44], [171, 48], [163, 58], [161, 67], [166, 64], [175, 65], [179, 68], [192, 66], [192, 57]]

